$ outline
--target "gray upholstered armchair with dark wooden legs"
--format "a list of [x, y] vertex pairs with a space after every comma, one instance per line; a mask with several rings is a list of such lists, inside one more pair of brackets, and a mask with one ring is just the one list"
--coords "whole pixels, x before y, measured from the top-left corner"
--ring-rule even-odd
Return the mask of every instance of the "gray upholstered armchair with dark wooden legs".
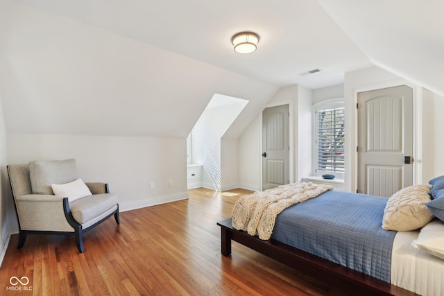
[[91, 194], [76, 199], [54, 195], [51, 185], [65, 186], [77, 179], [75, 159], [8, 165], [8, 175], [19, 221], [18, 249], [26, 234], [67, 234], [75, 236], [83, 253], [84, 232], [112, 215], [120, 224], [117, 195], [110, 193], [108, 184], [83, 183]]

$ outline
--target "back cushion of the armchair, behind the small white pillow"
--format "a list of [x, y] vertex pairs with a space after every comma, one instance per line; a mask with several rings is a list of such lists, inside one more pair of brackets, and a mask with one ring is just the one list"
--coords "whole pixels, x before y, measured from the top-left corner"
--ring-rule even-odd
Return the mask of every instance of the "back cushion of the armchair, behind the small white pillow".
[[54, 194], [51, 184], [65, 184], [77, 179], [76, 159], [30, 162], [29, 174], [34, 194]]

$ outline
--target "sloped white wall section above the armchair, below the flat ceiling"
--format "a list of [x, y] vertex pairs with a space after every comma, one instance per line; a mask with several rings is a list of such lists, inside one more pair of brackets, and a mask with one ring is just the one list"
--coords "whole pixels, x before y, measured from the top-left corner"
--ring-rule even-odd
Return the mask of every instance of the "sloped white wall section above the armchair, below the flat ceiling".
[[237, 138], [277, 89], [19, 1], [0, 2], [0, 87], [8, 133], [184, 138], [214, 93], [250, 100]]

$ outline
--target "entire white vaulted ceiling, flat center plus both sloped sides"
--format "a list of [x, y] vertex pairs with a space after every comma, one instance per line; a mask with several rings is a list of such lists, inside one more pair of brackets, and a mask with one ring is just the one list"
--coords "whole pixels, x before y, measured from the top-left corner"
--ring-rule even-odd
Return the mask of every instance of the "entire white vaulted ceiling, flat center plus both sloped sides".
[[[443, 1], [0, 0], [10, 133], [186, 137], [213, 94], [337, 85], [375, 64], [444, 94]], [[234, 53], [239, 31], [258, 49]], [[312, 69], [320, 72], [305, 75]]]

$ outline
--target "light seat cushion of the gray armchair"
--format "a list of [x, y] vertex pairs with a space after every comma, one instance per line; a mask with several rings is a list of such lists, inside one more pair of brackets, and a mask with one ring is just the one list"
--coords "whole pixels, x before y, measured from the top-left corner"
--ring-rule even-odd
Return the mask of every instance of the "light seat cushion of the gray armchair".
[[69, 202], [73, 218], [80, 224], [99, 216], [112, 207], [116, 207], [117, 195], [115, 193], [103, 193], [79, 198]]

